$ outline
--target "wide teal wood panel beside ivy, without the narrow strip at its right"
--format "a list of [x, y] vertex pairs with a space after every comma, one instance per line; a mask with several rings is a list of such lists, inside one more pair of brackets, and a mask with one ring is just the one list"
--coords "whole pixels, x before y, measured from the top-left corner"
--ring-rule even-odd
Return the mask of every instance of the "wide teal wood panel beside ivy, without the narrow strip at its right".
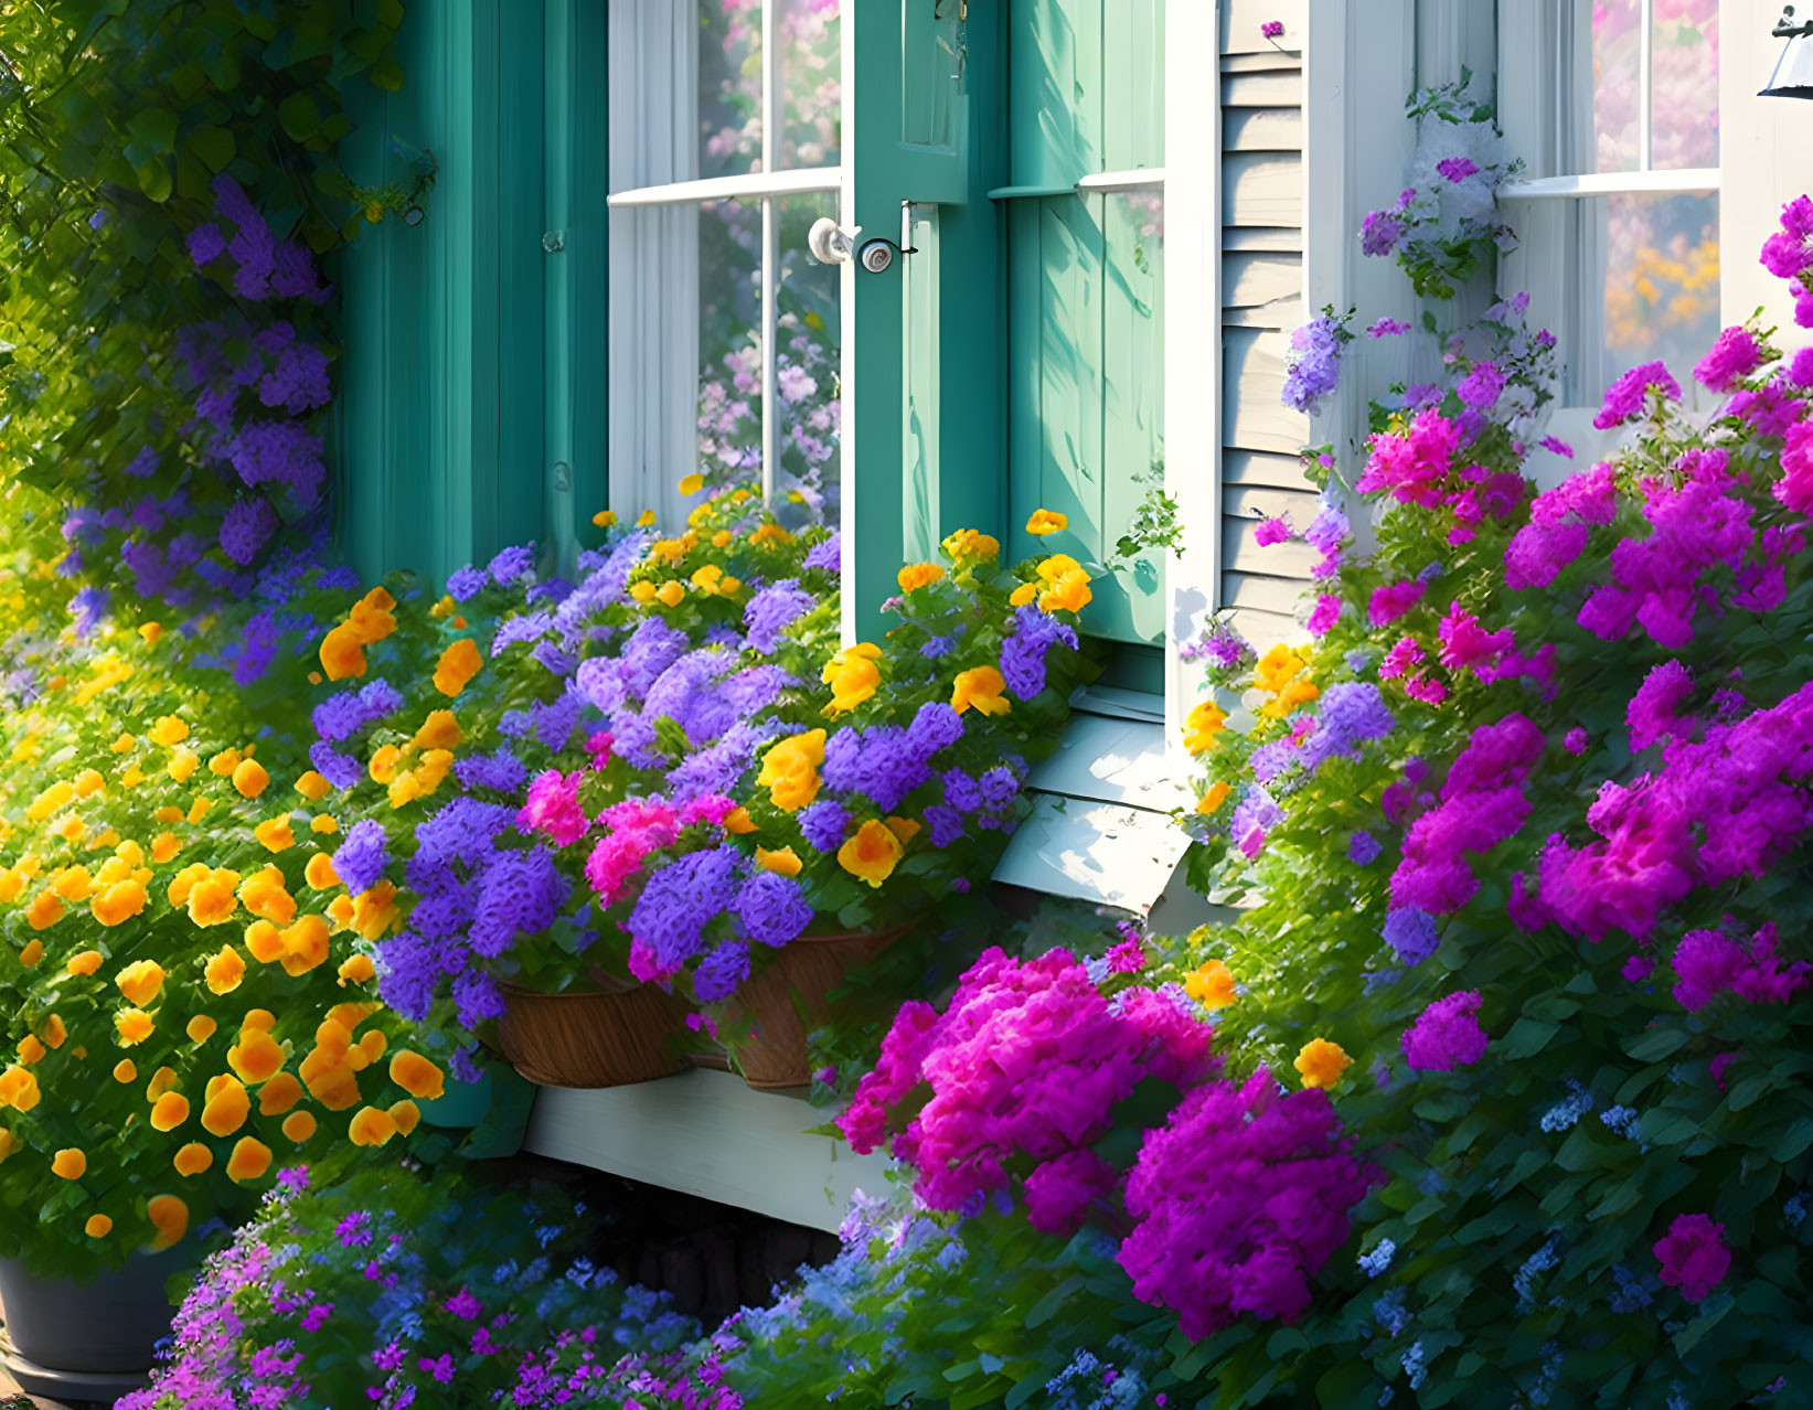
[[544, 529], [544, 0], [417, 5], [404, 87], [346, 94], [361, 183], [395, 178], [390, 140], [439, 179], [417, 227], [344, 252], [337, 468], [343, 544], [366, 578], [433, 580]]

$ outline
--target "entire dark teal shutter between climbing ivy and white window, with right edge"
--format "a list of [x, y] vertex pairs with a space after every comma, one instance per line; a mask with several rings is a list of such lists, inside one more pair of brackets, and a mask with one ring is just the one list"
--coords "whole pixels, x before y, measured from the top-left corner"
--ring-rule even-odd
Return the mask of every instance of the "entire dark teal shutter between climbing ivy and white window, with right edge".
[[354, 181], [397, 179], [392, 138], [439, 161], [426, 219], [368, 228], [337, 270], [339, 529], [366, 578], [441, 582], [506, 544], [571, 540], [569, 506], [604, 504], [602, 9], [413, 5], [404, 87], [346, 94]]

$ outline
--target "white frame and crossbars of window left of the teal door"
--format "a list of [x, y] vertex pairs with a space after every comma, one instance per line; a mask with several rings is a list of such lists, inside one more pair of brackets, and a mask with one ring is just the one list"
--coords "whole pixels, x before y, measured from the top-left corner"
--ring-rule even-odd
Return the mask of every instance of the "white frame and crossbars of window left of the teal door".
[[[633, 183], [606, 199], [613, 212], [611, 502], [653, 507], [658, 524], [685, 522], [678, 482], [698, 468], [700, 208], [716, 201], [761, 203], [761, 493], [772, 498], [783, 430], [776, 382], [778, 203], [787, 196], [839, 194], [845, 178], [843, 165], [769, 170], [771, 152], [785, 140], [776, 42], [781, 0], [761, 0], [763, 170], [700, 179], [698, 5], [700, 0], [611, 0], [609, 5], [613, 187], [620, 172], [635, 172]], [[839, 163], [847, 159], [848, 141], [839, 141]], [[640, 214], [649, 210], [665, 216]], [[616, 217], [616, 212], [625, 214]], [[845, 397], [847, 377], [848, 372]]]

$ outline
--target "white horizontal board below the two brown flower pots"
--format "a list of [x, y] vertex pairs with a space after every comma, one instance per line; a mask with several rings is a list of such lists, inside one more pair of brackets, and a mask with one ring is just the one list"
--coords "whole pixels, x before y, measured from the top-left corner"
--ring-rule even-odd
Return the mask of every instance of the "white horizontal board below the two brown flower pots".
[[629, 1087], [542, 1087], [522, 1149], [836, 1232], [856, 1189], [887, 1191], [888, 1158], [809, 1135], [832, 1113], [705, 1067]]

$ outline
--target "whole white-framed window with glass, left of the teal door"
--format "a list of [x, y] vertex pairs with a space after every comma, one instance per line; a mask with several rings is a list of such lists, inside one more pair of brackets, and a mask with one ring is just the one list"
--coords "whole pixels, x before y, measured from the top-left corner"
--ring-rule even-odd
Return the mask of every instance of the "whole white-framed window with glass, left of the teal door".
[[761, 480], [838, 507], [839, 0], [638, 0], [611, 18], [611, 500]]

